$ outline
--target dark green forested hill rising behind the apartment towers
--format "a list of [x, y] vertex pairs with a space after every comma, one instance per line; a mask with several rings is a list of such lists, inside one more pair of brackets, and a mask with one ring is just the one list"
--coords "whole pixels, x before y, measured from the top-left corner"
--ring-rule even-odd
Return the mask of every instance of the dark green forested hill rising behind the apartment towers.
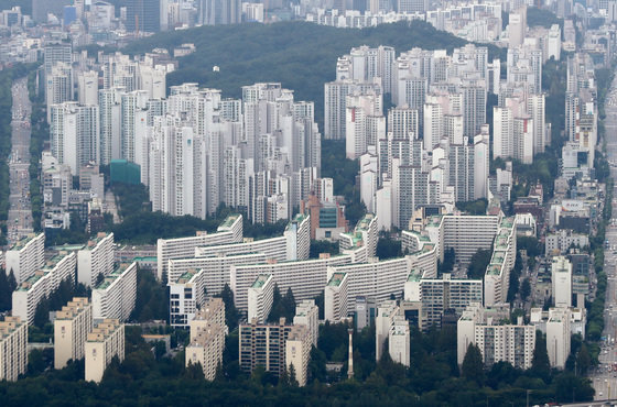
[[[184, 81], [221, 89], [238, 98], [240, 87], [258, 81], [278, 81], [295, 91], [296, 100], [315, 102], [318, 122], [323, 117], [323, 84], [334, 80], [336, 59], [354, 46], [390, 45], [398, 53], [414, 46], [452, 51], [466, 42], [427, 23], [414, 21], [382, 24], [364, 30], [335, 29], [306, 22], [202, 26], [161, 33], [130, 44], [125, 51], [144, 53], [154, 47], [172, 50], [193, 43], [196, 52], [180, 59], [180, 69], [167, 85]], [[491, 56], [499, 48], [490, 47]], [[213, 66], [220, 67], [214, 73]]]

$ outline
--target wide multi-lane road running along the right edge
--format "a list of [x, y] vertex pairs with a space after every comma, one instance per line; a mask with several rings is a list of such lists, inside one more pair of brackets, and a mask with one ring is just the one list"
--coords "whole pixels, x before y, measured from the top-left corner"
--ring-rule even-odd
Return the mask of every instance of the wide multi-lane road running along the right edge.
[[[617, 80], [613, 80], [609, 95], [607, 96], [606, 119], [606, 152], [610, 163], [610, 175], [613, 179], [617, 179]], [[617, 398], [617, 373], [611, 372], [613, 366], [617, 363], [617, 188], [613, 191], [613, 201], [606, 205], [613, 206], [613, 218], [606, 229], [606, 240], [604, 252], [604, 270], [607, 276], [606, 300], [604, 311], [604, 332], [602, 350], [599, 354], [599, 366], [597, 371], [592, 372], [589, 378], [596, 391], [595, 399], [602, 400], [607, 398]]]

